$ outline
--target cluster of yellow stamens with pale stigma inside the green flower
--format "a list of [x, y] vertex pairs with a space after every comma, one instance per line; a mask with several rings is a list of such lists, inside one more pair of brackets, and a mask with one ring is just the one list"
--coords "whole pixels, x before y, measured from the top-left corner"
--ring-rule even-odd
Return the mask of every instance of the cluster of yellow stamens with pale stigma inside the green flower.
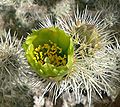
[[35, 48], [33, 59], [42, 65], [50, 63], [54, 66], [65, 66], [67, 63], [67, 57], [63, 55], [62, 48], [58, 47], [57, 44], [52, 41]]

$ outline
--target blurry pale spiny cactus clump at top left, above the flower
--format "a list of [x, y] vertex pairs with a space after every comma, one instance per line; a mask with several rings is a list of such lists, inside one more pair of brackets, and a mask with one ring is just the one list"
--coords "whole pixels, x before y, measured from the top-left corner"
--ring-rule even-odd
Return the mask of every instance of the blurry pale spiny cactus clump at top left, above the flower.
[[19, 7], [16, 7], [16, 18], [20, 20], [22, 25], [29, 28], [33, 27], [35, 21], [42, 19], [46, 14], [46, 6], [39, 6], [32, 4], [32, 2], [21, 2]]

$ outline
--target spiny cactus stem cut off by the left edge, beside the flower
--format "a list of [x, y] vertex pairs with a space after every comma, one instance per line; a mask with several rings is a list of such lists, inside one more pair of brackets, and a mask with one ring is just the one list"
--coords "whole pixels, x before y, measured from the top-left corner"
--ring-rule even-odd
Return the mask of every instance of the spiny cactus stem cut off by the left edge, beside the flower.
[[[0, 89], [11, 90], [15, 84], [18, 84], [21, 40], [16, 36], [11, 37], [10, 31], [0, 39]], [[4, 91], [3, 90], [3, 91]]]

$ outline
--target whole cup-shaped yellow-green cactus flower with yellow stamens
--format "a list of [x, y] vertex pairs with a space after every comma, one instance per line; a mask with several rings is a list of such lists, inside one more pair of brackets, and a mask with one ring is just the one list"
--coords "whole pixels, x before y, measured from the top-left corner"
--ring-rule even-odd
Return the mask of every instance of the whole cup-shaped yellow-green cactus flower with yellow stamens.
[[72, 39], [57, 27], [33, 30], [23, 44], [28, 63], [42, 78], [59, 81], [73, 63]]

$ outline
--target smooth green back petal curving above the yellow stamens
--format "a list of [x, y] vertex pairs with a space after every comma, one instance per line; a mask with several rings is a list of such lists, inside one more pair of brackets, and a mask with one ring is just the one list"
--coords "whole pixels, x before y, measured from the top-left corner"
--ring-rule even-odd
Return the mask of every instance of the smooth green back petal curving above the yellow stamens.
[[[57, 45], [63, 49], [63, 52], [66, 52], [70, 44], [70, 40], [69, 40], [70, 36], [57, 27], [56, 28], [51, 27], [49, 29], [43, 28], [40, 30], [36, 30], [33, 31], [33, 33], [30, 36], [31, 38], [33, 38], [32, 43], [35, 47], [38, 47], [38, 45], [44, 43], [48, 43], [49, 40], [51, 40], [52, 42], [57, 43]], [[31, 38], [28, 40], [31, 41]]]

